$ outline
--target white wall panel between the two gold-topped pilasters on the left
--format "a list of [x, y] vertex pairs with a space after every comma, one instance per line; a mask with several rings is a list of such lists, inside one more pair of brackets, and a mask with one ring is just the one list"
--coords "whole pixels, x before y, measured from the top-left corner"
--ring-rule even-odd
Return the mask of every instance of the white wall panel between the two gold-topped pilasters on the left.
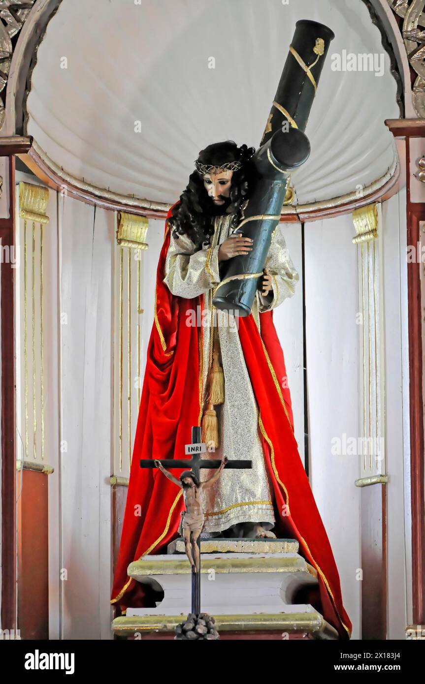
[[59, 198], [65, 639], [110, 638], [114, 215]]

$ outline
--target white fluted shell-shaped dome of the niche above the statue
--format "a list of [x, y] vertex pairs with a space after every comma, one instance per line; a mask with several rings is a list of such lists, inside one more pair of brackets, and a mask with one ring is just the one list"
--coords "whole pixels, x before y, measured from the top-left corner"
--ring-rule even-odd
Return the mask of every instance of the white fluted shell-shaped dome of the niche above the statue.
[[62, 0], [40, 44], [27, 133], [67, 174], [175, 202], [201, 148], [259, 145], [300, 18], [336, 37], [306, 131], [311, 157], [294, 175], [298, 203], [353, 192], [394, 165], [384, 120], [399, 111], [387, 53], [382, 77], [331, 70], [332, 53], [384, 52], [361, 0], [137, 2]]

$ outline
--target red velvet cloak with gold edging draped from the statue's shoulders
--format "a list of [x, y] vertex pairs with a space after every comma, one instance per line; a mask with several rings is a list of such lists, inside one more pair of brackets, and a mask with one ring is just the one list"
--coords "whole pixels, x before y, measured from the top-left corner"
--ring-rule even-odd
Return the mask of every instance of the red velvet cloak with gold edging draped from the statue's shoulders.
[[[171, 209], [167, 218], [171, 215]], [[141, 469], [140, 458], [184, 458], [192, 425], [202, 417], [202, 328], [186, 325], [186, 311], [203, 306], [175, 297], [164, 284], [170, 244], [166, 222], [164, 245], [157, 267], [155, 321], [147, 350], [146, 370], [120, 551], [114, 575], [112, 604], [121, 611], [144, 605], [144, 588], [127, 576], [127, 567], [149, 553], [166, 552], [177, 537], [183, 510], [181, 490], [157, 469]], [[318, 572], [320, 610], [342, 639], [351, 635], [351, 622], [342, 604], [337, 566], [315, 505], [294, 436], [283, 352], [272, 311], [260, 315], [261, 335], [252, 315], [239, 319], [239, 335], [257, 405], [266, 466], [274, 488], [276, 536], [298, 540], [300, 555]], [[287, 383], [285, 383], [286, 385]], [[172, 471], [176, 477], [181, 469]]]

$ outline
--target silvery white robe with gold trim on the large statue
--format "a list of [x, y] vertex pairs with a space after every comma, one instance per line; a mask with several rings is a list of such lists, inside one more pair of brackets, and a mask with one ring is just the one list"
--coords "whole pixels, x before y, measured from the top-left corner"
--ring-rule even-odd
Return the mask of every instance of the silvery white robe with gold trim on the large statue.
[[[214, 219], [214, 235], [196, 250], [186, 235], [172, 231], [165, 265], [165, 278], [173, 295], [188, 299], [204, 295], [203, 321], [203, 402], [209, 369], [209, 345], [211, 340], [211, 307], [214, 287], [220, 282], [218, 250], [220, 244], [233, 232], [229, 228], [231, 215], [219, 215]], [[260, 329], [259, 313], [279, 306], [294, 294], [299, 280], [292, 259], [289, 257], [281, 227], [278, 225], [266, 261], [272, 274], [273, 289], [267, 298], [257, 291], [252, 315]], [[214, 307], [214, 311], [216, 311]], [[239, 334], [237, 317], [217, 312], [220, 360], [224, 371], [224, 404], [215, 406], [219, 421], [220, 447], [210, 458], [229, 460], [250, 459], [252, 469], [224, 469], [220, 479], [203, 492], [204, 531], [220, 532], [237, 523], [261, 523], [266, 529], [274, 525], [272, 487], [268, 480], [263, 448], [258, 426], [259, 412], [253, 388], [246, 368]], [[194, 302], [196, 317], [196, 302]], [[199, 317], [198, 317], [199, 319]], [[197, 390], [197, 388], [196, 388]], [[194, 390], [195, 391], [195, 390]], [[201, 469], [201, 480], [212, 471]]]

